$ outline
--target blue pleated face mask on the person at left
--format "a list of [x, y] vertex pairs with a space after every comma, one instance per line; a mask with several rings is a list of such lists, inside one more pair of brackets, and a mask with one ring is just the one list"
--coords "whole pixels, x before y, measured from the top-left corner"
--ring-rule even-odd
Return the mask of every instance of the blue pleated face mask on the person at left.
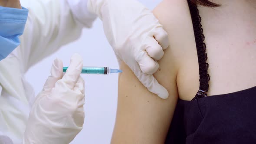
[[27, 17], [25, 8], [0, 7], [0, 60], [20, 45], [19, 36], [23, 34]]

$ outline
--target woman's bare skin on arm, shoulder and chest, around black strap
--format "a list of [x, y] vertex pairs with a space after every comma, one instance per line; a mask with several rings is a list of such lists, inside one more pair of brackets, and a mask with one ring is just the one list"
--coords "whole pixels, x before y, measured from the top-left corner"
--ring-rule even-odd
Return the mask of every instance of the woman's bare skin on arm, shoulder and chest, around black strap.
[[[211, 76], [209, 96], [256, 86], [256, 1], [214, 2], [222, 6], [198, 7]], [[163, 0], [153, 13], [170, 41], [154, 76], [170, 95], [162, 100], [148, 92], [122, 63], [112, 144], [164, 144], [177, 99], [190, 101], [199, 88], [197, 51], [187, 0]]]

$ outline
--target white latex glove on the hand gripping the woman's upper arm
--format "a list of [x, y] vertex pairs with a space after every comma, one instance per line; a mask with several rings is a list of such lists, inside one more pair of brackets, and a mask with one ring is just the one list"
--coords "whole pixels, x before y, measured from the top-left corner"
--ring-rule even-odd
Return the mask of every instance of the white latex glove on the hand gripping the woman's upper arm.
[[167, 90], [152, 75], [169, 46], [153, 13], [137, 0], [88, 0], [88, 10], [102, 20], [119, 65], [123, 60], [150, 92], [167, 98]]

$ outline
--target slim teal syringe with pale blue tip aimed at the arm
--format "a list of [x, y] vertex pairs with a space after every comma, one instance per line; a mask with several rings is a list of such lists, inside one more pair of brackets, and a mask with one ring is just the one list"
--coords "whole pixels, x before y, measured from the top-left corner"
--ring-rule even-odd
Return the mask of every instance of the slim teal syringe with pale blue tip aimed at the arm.
[[[69, 67], [63, 67], [63, 72], [66, 72], [68, 68]], [[83, 66], [81, 73], [108, 75], [110, 73], [120, 73], [120, 72], [123, 72], [123, 71], [120, 69], [109, 69], [108, 67]]]

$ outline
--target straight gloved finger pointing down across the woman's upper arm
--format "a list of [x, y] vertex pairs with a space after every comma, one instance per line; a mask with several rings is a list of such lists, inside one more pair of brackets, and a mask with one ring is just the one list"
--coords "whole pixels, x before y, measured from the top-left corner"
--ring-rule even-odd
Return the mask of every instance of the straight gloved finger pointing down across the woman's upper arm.
[[158, 81], [154, 78], [153, 75], [148, 75], [143, 72], [135, 73], [139, 81], [146, 87], [148, 90], [160, 98], [166, 99], [169, 96], [169, 93], [164, 86], [160, 85]]

